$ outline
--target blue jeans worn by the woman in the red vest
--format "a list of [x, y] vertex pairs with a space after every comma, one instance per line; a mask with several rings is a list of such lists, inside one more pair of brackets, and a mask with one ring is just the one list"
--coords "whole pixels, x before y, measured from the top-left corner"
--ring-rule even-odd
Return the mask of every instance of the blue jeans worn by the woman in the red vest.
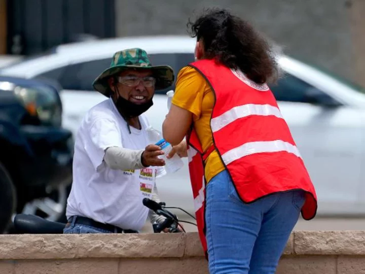
[[227, 171], [216, 175], [206, 186], [209, 272], [274, 274], [304, 201], [295, 190], [244, 203]]

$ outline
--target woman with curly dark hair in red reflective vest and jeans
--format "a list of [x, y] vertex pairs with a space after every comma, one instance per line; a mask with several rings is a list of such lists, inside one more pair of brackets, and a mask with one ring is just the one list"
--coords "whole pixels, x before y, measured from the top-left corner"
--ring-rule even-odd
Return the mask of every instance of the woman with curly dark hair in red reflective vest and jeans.
[[[315, 189], [267, 82], [266, 41], [227, 10], [191, 23], [196, 61], [178, 73], [163, 123], [171, 153], [189, 157], [201, 243], [211, 273], [275, 273]], [[186, 141], [182, 141], [186, 136]]]

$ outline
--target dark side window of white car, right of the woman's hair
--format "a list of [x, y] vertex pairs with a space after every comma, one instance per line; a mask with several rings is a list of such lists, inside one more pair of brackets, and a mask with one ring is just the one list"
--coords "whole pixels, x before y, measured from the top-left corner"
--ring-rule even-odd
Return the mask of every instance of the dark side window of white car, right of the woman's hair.
[[321, 105], [339, 104], [330, 95], [290, 74], [285, 74], [276, 84], [270, 84], [269, 87], [278, 101]]

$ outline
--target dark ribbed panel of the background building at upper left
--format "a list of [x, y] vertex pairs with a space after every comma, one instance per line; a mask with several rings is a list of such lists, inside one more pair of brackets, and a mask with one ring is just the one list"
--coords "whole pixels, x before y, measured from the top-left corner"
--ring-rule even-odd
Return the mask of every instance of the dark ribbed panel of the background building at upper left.
[[59, 44], [116, 36], [115, 0], [0, 2], [6, 3], [8, 54], [38, 54]]

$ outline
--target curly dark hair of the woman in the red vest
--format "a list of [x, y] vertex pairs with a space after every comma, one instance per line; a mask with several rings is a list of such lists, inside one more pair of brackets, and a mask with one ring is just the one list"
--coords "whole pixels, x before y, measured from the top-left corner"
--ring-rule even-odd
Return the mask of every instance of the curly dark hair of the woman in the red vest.
[[206, 9], [187, 24], [191, 37], [202, 41], [204, 58], [237, 69], [258, 84], [276, 82], [278, 68], [267, 41], [251, 24], [226, 9]]

